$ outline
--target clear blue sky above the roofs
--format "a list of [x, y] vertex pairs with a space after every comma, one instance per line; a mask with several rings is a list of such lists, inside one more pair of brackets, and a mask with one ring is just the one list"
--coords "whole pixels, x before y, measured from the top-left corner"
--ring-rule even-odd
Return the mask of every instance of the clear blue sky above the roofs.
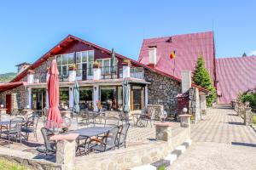
[[0, 73], [35, 61], [68, 34], [137, 59], [143, 38], [213, 28], [217, 57], [251, 54], [255, 7], [256, 1], [238, 0], [2, 1]]

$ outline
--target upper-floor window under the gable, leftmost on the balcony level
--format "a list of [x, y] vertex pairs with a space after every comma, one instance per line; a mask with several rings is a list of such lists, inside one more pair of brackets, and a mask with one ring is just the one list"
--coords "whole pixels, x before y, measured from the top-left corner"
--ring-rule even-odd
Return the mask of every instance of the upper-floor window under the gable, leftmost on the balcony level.
[[56, 55], [57, 59], [57, 67], [60, 75], [67, 76], [68, 75], [68, 67], [73, 65], [74, 54], [60, 54]]

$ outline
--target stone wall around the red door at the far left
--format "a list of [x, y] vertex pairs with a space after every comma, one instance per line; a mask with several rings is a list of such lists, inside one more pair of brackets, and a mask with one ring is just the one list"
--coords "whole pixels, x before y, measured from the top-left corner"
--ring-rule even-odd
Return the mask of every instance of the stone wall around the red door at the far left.
[[26, 108], [26, 105], [28, 105], [26, 88], [24, 86], [13, 88], [1, 93], [0, 104], [3, 104], [4, 106], [6, 106], [6, 94], [11, 94], [12, 96], [12, 111], [14, 109]]

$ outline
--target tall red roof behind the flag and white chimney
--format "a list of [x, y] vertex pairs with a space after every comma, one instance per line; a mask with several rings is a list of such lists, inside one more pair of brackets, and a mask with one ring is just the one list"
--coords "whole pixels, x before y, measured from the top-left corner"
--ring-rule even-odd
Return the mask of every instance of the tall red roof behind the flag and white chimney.
[[156, 65], [155, 68], [173, 76], [173, 59], [169, 58], [172, 50], [176, 52], [175, 77], [181, 77], [181, 71], [194, 71], [195, 63], [199, 55], [205, 59], [206, 67], [215, 80], [215, 52], [213, 32], [200, 32], [172, 36], [158, 37], [143, 40], [143, 46], [138, 61], [148, 65], [148, 47], [156, 46]]

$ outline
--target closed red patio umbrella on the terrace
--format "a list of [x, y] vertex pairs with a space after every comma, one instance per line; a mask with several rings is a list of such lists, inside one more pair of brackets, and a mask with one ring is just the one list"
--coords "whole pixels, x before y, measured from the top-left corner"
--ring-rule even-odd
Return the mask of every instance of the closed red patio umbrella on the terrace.
[[51, 62], [49, 67], [49, 79], [47, 80], [49, 94], [49, 113], [48, 121], [53, 121], [58, 127], [61, 127], [62, 118], [59, 110], [59, 71], [57, 69], [56, 60]]

